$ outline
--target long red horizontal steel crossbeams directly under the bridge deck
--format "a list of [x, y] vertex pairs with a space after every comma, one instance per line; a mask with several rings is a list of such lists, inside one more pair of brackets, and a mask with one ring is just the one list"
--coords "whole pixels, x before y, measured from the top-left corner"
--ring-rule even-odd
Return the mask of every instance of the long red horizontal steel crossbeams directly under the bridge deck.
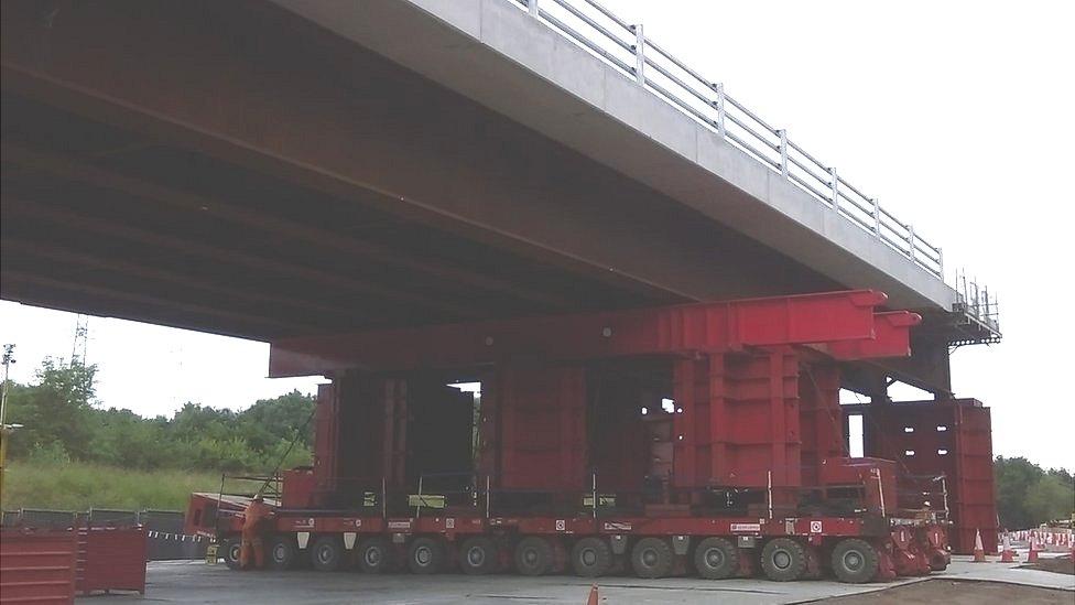
[[[913, 313], [876, 314], [873, 290], [688, 304], [582, 315], [382, 329], [272, 343], [272, 377], [466, 367], [510, 357], [611, 358], [749, 346], [836, 346], [834, 356], [908, 355]], [[872, 344], [868, 344], [872, 343]], [[895, 353], [892, 353], [892, 352]]]

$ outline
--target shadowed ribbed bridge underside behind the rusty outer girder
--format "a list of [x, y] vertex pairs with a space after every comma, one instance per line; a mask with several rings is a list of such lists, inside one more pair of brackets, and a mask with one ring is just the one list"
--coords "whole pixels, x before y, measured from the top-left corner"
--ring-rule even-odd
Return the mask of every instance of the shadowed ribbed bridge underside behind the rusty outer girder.
[[659, 302], [17, 96], [3, 144], [9, 300], [259, 339]]

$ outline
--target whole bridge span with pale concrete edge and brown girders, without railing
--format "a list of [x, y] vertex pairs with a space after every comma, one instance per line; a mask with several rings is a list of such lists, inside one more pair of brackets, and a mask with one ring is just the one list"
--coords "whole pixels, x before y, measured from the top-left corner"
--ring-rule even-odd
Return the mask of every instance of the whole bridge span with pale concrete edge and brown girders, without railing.
[[873, 288], [925, 322], [861, 390], [948, 390], [953, 289], [511, 0], [2, 9], [4, 299], [273, 339]]

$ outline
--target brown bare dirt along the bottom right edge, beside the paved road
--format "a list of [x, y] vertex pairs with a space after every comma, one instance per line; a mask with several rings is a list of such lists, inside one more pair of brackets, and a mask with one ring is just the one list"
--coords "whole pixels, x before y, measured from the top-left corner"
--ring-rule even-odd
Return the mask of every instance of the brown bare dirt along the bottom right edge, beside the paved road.
[[953, 580], [926, 580], [897, 586], [876, 593], [866, 593], [822, 603], [877, 605], [878, 603], [904, 603], [908, 605], [1072, 605], [1072, 593], [1036, 586], [1001, 584], [999, 582], [956, 582]]

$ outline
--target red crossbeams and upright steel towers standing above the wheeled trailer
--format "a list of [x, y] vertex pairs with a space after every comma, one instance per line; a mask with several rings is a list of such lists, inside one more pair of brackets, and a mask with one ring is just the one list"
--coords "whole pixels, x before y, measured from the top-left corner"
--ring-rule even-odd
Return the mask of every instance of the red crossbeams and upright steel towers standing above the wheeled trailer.
[[[837, 359], [908, 355], [910, 328], [920, 317], [876, 313], [886, 300], [883, 293], [861, 290], [294, 338], [272, 343], [270, 374], [495, 364], [482, 401], [478, 471], [498, 477], [499, 487], [571, 490], [586, 480], [585, 381], [580, 367], [549, 363], [672, 355], [678, 357], [673, 383], [682, 413], [674, 418], [671, 487], [794, 487], [803, 485], [804, 462], [807, 479], [814, 480], [824, 460], [843, 454], [834, 418], [838, 374], [827, 366], [825, 393], [815, 392], [816, 383], [800, 385], [801, 366], [811, 357], [802, 347]], [[395, 382], [374, 379], [361, 386], [362, 401], [350, 407], [341, 407], [326, 387], [330, 406], [318, 417], [314, 473], [324, 489], [330, 490], [337, 476], [402, 482], [406, 435], [399, 419], [406, 415], [406, 396], [405, 386]], [[345, 409], [350, 422], [383, 430], [367, 435], [362, 452], [335, 456], [336, 423]], [[361, 467], [345, 472], [337, 457]]]

